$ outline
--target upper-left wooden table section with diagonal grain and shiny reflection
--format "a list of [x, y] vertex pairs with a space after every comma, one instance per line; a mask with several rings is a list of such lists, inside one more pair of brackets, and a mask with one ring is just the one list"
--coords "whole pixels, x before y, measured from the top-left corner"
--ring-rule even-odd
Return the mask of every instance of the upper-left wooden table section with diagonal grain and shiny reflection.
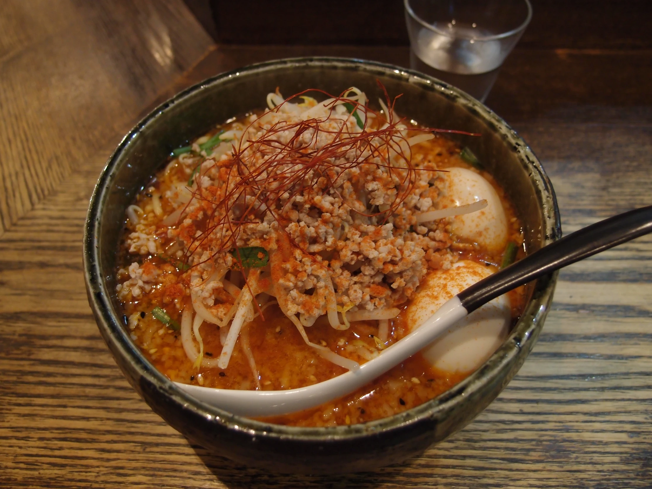
[[0, 235], [212, 44], [181, 0], [1, 8]]

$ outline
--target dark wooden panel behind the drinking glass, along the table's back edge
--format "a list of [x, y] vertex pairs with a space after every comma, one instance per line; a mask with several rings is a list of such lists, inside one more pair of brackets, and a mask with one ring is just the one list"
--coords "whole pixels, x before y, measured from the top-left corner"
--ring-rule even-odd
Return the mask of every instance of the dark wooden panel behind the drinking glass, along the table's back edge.
[[[408, 46], [401, 0], [185, 0], [222, 44]], [[528, 48], [650, 48], [650, 0], [531, 0]], [[243, 14], [245, 13], [245, 14]]]

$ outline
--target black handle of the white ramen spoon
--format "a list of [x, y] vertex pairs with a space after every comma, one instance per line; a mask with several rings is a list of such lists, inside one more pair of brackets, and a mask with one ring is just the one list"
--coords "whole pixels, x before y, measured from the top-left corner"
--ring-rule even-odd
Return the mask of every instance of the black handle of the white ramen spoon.
[[565, 236], [460, 292], [468, 312], [535, 278], [652, 233], [652, 205], [596, 222]]

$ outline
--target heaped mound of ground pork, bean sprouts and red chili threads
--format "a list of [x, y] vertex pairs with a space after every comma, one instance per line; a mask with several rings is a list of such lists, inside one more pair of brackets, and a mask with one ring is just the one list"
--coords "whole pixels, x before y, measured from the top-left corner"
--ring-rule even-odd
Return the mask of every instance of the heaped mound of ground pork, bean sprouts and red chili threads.
[[[434, 134], [387, 106], [370, 110], [355, 88], [323, 102], [301, 98], [270, 94], [269, 111], [178, 150], [163, 171], [170, 183], [147, 189], [147, 209], [128, 210], [125, 239], [131, 254], [164, 260], [178, 287], [133, 263], [121, 272], [122, 300], [158, 288], [181, 308], [189, 295], [195, 316], [184, 315], [182, 329], [197, 336], [201, 321], [230, 326], [220, 336], [226, 352], [275, 300], [322, 348], [303, 332], [320, 316], [335, 329], [348, 328], [349, 316], [391, 318], [428, 271], [451, 267], [445, 220], [417, 220], [445, 192], [434, 160], [411, 154]], [[200, 351], [190, 342], [186, 353], [202, 361], [196, 340]]]

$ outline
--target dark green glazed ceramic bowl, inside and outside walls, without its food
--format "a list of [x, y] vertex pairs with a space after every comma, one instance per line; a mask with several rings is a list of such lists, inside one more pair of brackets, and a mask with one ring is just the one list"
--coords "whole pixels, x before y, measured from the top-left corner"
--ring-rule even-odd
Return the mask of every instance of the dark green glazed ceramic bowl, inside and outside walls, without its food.
[[[368, 61], [303, 58], [271, 61], [210, 78], [147, 115], [115, 150], [95, 187], [84, 235], [89, 303], [126, 378], [166, 422], [216, 454], [278, 472], [346, 473], [401, 462], [451, 436], [486, 408], [518, 371], [541, 331], [556, 276], [529, 285], [522, 318], [496, 353], [460, 384], [393, 417], [336, 428], [296, 428], [237, 417], [181, 391], [143, 357], [121, 321], [113, 270], [125, 209], [173, 148], [229, 117], [264, 105], [275, 87], [340, 93], [355, 85], [370, 100], [404, 94], [398, 113], [429, 127], [482, 134], [452, 136], [468, 145], [505, 188], [524, 223], [527, 250], [560, 236], [550, 181], [527, 144], [495, 113], [462, 91], [418, 72]], [[373, 102], [372, 102], [373, 103]]]

